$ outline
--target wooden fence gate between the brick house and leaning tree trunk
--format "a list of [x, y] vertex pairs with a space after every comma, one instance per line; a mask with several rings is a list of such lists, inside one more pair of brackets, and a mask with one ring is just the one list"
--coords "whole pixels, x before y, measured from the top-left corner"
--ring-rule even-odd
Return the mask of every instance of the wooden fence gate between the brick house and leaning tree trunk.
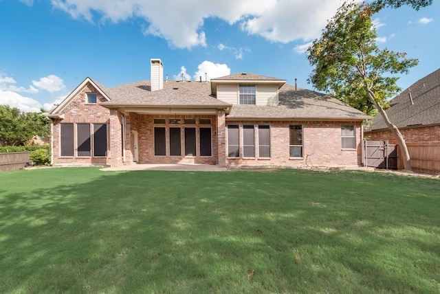
[[397, 145], [388, 141], [364, 141], [362, 148], [364, 166], [397, 170]]

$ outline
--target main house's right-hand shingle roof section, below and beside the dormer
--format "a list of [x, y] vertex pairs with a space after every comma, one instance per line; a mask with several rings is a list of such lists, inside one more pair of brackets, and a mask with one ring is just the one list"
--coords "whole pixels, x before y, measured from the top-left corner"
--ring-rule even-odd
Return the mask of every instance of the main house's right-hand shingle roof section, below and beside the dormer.
[[371, 117], [329, 95], [285, 84], [278, 106], [234, 105], [227, 120], [368, 120]]

